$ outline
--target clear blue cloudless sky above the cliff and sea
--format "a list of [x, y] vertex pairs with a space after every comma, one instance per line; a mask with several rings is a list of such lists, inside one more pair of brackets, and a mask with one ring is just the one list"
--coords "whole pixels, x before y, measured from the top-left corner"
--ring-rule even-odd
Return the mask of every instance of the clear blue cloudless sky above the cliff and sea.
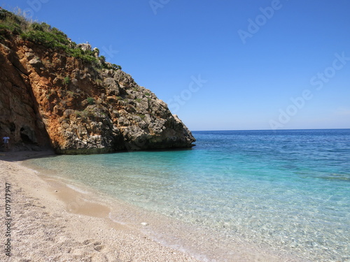
[[0, 0], [88, 41], [191, 130], [350, 128], [349, 0]]

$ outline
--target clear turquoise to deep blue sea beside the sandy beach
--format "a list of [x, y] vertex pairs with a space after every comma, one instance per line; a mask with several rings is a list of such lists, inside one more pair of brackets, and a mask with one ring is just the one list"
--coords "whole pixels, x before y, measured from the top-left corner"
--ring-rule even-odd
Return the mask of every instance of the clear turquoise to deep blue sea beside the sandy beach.
[[190, 150], [27, 163], [71, 188], [141, 210], [144, 220], [120, 209], [110, 218], [146, 221], [145, 233], [202, 261], [269, 261], [268, 255], [276, 261], [350, 261], [350, 129], [193, 136]]

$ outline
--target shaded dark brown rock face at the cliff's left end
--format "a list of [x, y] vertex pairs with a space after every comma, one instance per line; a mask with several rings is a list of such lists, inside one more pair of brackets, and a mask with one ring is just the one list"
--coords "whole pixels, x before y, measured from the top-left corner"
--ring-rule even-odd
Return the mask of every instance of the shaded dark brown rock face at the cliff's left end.
[[50, 147], [43, 119], [31, 92], [27, 70], [15, 52], [0, 44], [0, 136], [15, 150]]

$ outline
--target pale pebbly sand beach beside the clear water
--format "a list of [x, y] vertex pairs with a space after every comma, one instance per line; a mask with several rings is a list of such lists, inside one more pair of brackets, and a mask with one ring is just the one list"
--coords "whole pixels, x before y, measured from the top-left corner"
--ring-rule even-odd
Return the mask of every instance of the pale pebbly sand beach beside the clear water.
[[[0, 153], [0, 261], [197, 261], [108, 219], [109, 207], [78, 199], [64, 184], [45, 180], [21, 160], [43, 153]], [[45, 154], [50, 154], [46, 152]], [[5, 189], [10, 184], [10, 254], [6, 256]], [[80, 202], [81, 203], [81, 202]], [[71, 210], [69, 212], [68, 210]]]

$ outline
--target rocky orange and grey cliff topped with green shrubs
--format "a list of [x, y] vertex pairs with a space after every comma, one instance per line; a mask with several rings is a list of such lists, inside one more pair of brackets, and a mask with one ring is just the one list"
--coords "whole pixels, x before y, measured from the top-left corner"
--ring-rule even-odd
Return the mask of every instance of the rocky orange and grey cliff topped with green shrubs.
[[181, 120], [120, 66], [45, 23], [0, 10], [0, 135], [61, 154], [192, 147]]

